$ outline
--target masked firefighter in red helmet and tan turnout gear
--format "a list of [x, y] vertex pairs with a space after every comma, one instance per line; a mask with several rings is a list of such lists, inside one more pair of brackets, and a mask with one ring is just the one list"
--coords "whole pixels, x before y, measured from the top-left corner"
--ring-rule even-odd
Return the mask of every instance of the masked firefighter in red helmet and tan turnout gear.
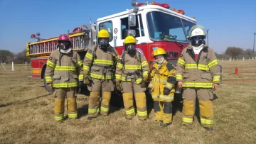
[[82, 61], [78, 52], [71, 49], [68, 35], [59, 36], [57, 49], [51, 52], [46, 65], [46, 82], [48, 87], [55, 89], [55, 120], [63, 121], [65, 98], [68, 101], [68, 118], [77, 118], [77, 87], [83, 84]]

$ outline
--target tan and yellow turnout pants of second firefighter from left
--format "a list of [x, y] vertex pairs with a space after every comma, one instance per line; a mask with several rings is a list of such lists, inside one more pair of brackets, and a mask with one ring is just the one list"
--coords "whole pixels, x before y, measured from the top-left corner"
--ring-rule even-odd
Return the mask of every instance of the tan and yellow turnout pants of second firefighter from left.
[[92, 83], [88, 84], [88, 90], [90, 91], [88, 116], [97, 117], [99, 114], [107, 116], [110, 109], [111, 92], [114, 90], [112, 80], [92, 79]]

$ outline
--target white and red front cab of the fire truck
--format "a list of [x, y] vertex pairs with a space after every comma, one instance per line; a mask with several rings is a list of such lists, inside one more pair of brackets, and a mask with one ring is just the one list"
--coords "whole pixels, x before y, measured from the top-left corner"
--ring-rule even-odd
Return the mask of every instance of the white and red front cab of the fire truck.
[[137, 50], [143, 52], [150, 65], [154, 63], [153, 48], [164, 48], [169, 62], [176, 64], [183, 48], [188, 45], [188, 31], [196, 20], [184, 15], [183, 10], [169, 9], [169, 4], [132, 1], [134, 9], [97, 19], [97, 30], [110, 33], [110, 45], [119, 54], [124, 50], [127, 35], [137, 40]]

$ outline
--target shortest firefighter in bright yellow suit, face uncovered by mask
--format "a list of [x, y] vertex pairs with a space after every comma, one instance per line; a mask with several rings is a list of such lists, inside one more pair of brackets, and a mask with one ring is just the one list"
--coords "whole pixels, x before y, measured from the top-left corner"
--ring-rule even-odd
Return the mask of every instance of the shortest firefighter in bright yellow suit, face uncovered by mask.
[[156, 48], [153, 52], [156, 63], [151, 72], [151, 82], [148, 86], [154, 100], [156, 121], [166, 127], [172, 122], [172, 104], [176, 85], [176, 70], [165, 60], [166, 51]]

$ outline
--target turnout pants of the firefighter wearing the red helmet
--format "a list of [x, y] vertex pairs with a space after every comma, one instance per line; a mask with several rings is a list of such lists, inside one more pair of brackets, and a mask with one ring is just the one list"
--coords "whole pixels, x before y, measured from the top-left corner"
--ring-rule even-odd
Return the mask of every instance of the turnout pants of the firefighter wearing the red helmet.
[[65, 111], [65, 98], [68, 101], [68, 118], [77, 118], [78, 111], [77, 111], [77, 90], [76, 87], [72, 88], [61, 88], [55, 89], [53, 93], [55, 98], [55, 120], [62, 121], [64, 118], [64, 111]]

